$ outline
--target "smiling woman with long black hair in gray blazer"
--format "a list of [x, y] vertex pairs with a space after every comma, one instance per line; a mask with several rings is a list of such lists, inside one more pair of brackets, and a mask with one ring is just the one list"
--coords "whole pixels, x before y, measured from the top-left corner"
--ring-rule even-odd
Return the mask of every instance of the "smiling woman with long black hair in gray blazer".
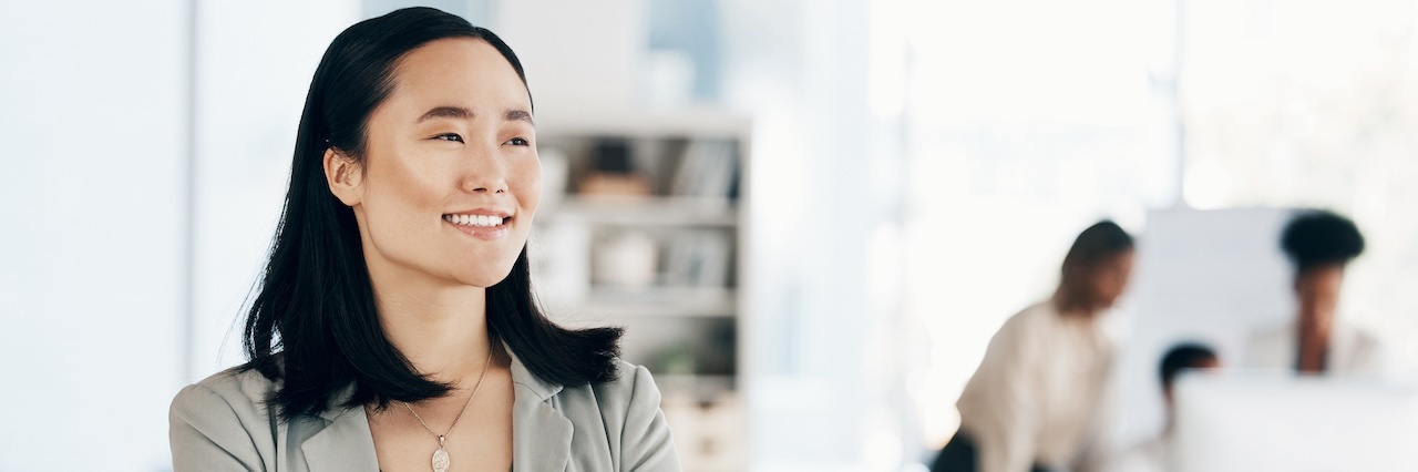
[[183, 388], [173, 471], [678, 471], [621, 330], [537, 308], [522, 64], [434, 9], [325, 52], [245, 319], [248, 361]]

